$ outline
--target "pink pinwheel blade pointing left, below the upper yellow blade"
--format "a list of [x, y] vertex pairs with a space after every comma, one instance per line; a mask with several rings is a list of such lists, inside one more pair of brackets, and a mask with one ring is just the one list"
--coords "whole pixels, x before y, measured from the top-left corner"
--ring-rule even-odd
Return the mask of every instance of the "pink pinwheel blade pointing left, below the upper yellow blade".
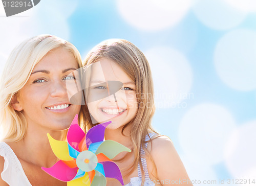
[[59, 160], [50, 168], [42, 167], [42, 170], [50, 174], [51, 176], [61, 180], [61, 181], [70, 181], [76, 174], [78, 168], [70, 168], [63, 161]]

